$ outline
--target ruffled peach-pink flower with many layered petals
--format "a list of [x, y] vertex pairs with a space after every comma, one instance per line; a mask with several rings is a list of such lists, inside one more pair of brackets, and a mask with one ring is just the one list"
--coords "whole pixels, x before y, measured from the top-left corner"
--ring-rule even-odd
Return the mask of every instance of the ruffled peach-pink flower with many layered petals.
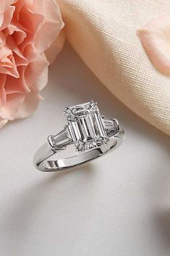
[[63, 26], [55, 0], [0, 0], [0, 128], [38, 106], [47, 83], [45, 51], [52, 43], [55, 49]]

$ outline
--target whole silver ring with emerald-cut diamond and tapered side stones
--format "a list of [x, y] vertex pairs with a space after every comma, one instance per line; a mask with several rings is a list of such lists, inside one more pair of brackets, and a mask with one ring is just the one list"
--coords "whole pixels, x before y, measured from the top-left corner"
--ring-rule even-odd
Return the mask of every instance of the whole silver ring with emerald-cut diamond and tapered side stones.
[[118, 121], [101, 115], [96, 102], [66, 107], [67, 125], [56, 135], [48, 136], [35, 153], [33, 162], [38, 170], [64, 170], [101, 157], [116, 149], [124, 139]]

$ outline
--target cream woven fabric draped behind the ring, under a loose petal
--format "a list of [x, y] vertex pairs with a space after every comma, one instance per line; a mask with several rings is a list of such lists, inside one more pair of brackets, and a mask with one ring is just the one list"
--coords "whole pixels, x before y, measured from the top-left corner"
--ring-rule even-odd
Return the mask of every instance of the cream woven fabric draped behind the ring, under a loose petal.
[[153, 17], [170, 15], [170, 1], [57, 3], [67, 39], [90, 70], [129, 109], [170, 134], [170, 78], [153, 67], [137, 36], [137, 28]]

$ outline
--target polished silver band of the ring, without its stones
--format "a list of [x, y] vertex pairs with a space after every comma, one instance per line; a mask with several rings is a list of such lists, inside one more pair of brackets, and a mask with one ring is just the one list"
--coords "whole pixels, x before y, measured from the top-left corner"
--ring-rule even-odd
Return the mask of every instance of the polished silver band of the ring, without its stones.
[[[85, 162], [101, 157], [103, 154], [116, 149], [122, 144], [124, 139], [124, 130], [120, 128], [116, 135], [109, 138], [108, 144], [103, 144], [98, 148], [90, 149], [87, 152], [75, 152], [74, 155], [68, 154], [68, 149], [74, 145], [67, 146], [66, 150], [54, 151], [49, 148], [48, 143], [43, 144], [35, 153], [33, 163], [35, 168], [43, 172], [51, 172], [57, 170], [65, 170], [81, 165]], [[74, 147], [73, 147], [74, 150]], [[72, 152], [72, 148], [71, 148]], [[70, 156], [71, 155], [71, 156]]]

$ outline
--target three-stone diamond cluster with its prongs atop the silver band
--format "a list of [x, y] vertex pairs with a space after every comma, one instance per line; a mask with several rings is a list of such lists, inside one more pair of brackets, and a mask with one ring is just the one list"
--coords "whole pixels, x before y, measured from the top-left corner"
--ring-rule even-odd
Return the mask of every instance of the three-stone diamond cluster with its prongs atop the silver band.
[[118, 121], [115, 118], [105, 119], [93, 100], [66, 107], [64, 115], [67, 117], [64, 130], [48, 136], [48, 144], [54, 151], [66, 149], [72, 143], [77, 152], [95, 149], [107, 144], [109, 137], [119, 132]]

